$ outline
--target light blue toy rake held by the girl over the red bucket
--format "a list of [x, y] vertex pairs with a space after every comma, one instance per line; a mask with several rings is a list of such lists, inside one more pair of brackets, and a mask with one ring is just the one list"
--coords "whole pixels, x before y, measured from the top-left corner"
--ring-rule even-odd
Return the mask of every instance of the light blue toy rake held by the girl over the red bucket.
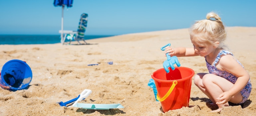
[[[171, 46], [171, 43], [168, 43], [167, 45], [163, 46], [163, 47], [161, 48], [161, 50], [165, 51], [165, 47], [167, 47], [167, 46]], [[177, 56], [171, 57], [171, 56], [169, 55], [169, 53], [167, 53], [167, 54], [166, 54], [166, 57], [167, 57], [167, 60], [164, 61], [164, 63], [163, 63], [163, 66], [164, 66], [164, 69], [165, 69], [166, 73], [169, 73], [169, 72], [170, 72], [169, 69], [168, 69], [168, 67], [171, 67], [172, 70], [175, 69], [174, 64], [176, 64], [178, 67], [181, 66], [181, 64], [180, 64], [179, 61], [178, 61]]]

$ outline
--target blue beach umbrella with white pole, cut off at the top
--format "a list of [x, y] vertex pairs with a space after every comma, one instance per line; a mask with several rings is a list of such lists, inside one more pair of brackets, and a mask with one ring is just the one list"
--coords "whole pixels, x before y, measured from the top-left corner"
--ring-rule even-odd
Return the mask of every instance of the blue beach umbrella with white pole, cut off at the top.
[[72, 7], [73, 0], [54, 0], [54, 6], [62, 6], [62, 18], [61, 18], [61, 40], [63, 40], [63, 12], [64, 7]]

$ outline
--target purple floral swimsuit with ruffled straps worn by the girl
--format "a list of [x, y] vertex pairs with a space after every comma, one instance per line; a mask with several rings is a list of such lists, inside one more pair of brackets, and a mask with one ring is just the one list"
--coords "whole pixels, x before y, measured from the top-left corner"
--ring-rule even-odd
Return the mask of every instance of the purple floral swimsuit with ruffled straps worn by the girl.
[[[220, 77], [223, 77], [223, 78], [227, 79], [228, 81], [230, 81], [230, 82], [232, 82], [234, 84], [236, 82], [236, 80], [237, 80], [236, 76], [234, 76], [233, 74], [231, 74], [231, 73], [229, 73], [227, 71], [218, 70], [215, 67], [215, 64], [219, 61], [220, 56], [223, 55], [223, 54], [224, 55], [230, 54], [230, 55], [234, 56], [231, 52], [229, 52], [227, 50], [221, 50], [219, 52], [219, 54], [217, 55], [217, 58], [215, 59], [213, 66], [211, 66], [206, 61], [206, 57], [205, 57], [206, 66], [207, 66], [210, 74], [214, 74], [214, 75], [218, 75]], [[243, 67], [243, 65], [238, 60], [237, 60], [237, 62]], [[250, 79], [248, 81], [247, 85], [240, 91], [242, 96], [243, 96], [243, 100], [240, 103], [244, 103], [248, 99], [248, 97], [250, 96], [251, 90], [252, 90], [252, 84], [251, 84], [251, 79]]]

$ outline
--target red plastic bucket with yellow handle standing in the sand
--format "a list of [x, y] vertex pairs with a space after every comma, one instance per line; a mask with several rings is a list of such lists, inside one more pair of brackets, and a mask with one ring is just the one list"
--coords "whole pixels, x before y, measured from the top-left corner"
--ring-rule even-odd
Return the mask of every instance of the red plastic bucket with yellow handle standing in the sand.
[[162, 68], [151, 75], [163, 112], [189, 106], [193, 76], [194, 71], [187, 67], [175, 67], [169, 73]]

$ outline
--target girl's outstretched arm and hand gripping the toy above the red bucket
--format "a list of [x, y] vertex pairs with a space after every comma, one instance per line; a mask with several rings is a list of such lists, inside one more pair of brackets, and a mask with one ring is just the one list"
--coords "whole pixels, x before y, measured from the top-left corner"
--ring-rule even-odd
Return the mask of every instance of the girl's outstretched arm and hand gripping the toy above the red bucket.
[[172, 48], [170, 46], [165, 48], [165, 54], [169, 53], [170, 56], [185, 57], [185, 56], [198, 56], [194, 51], [194, 48], [177, 47]]

